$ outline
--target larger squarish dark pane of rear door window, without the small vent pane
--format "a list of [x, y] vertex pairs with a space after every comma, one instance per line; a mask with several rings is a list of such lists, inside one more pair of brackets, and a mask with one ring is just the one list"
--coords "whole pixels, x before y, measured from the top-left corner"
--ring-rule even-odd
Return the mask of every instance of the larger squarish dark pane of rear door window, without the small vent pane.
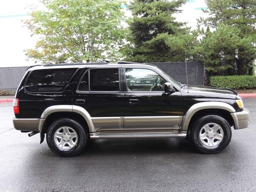
[[90, 91], [119, 91], [118, 68], [90, 69]]

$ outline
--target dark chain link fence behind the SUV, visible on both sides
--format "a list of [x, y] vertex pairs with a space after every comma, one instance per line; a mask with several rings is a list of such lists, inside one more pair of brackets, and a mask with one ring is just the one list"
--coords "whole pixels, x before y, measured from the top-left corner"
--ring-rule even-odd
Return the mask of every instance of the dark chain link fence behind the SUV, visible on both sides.
[[[180, 83], [186, 83], [185, 62], [149, 63], [162, 69]], [[204, 85], [204, 66], [200, 62], [187, 62], [188, 83]], [[28, 67], [1, 67], [0, 90], [16, 91]]]

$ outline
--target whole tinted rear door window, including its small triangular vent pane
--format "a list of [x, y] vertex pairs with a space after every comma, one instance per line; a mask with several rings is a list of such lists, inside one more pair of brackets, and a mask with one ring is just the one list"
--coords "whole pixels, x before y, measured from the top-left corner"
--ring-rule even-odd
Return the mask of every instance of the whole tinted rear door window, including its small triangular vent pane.
[[[90, 81], [90, 89], [89, 82]], [[119, 91], [119, 69], [90, 69], [78, 87], [79, 91]]]

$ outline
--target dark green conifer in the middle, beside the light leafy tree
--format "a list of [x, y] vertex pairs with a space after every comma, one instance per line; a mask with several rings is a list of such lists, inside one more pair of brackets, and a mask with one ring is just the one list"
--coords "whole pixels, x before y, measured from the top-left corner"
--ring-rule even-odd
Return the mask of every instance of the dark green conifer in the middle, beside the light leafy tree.
[[186, 0], [134, 0], [128, 7], [132, 18], [128, 21], [130, 45], [126, 46], [127, 59], [137, 62], [184, 61], [184, 47], [188, 42], [197, 42], [186, 23], [177, 22], [174, 13], [181, 12]]

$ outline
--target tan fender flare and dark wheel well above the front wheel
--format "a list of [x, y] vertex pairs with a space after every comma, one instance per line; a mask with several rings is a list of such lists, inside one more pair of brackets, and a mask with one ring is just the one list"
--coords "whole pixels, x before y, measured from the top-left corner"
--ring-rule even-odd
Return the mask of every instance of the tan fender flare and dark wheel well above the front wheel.
[[236, 110], [231, 105], [224, 102], [200, 102], [194, 104], [186, 112], [184, 120], [182, 121], [181, 130], [187, 131], [194, 120], [206, 114], [222, 116], [230, 123], [230, 126], [232, 126], [234, 125], [234, 120], [230, 113], [235, 111]]

